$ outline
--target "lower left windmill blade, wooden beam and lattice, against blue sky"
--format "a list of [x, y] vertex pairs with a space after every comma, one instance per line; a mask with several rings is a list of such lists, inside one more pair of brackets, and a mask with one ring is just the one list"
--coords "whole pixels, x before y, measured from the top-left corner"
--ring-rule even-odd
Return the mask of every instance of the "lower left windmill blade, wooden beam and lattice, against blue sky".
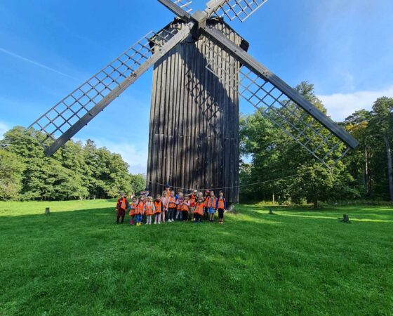
[[47, 156], [80, 131], [91, 119], [133, 84], [151, 65], [186, 39], [194, 25], [149, 32], [140, 41], [60, 100], [29, 126], [41, 131], [41, 141]]

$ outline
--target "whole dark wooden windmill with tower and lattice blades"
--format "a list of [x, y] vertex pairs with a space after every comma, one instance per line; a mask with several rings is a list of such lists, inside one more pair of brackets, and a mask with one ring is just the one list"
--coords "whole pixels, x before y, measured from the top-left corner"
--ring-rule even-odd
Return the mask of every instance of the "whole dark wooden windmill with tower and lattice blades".
[[147, 181], [226, 188], [237, 202], [239, 100], [253, 105], [309, 154], [331, 166], [357, 140], [247, 53], [226, 22], [244, 22], [267, 0], [159, 0], [176, 18], [149, 32], [29, 126], [53, 155], [149, 67], [154, 66]]

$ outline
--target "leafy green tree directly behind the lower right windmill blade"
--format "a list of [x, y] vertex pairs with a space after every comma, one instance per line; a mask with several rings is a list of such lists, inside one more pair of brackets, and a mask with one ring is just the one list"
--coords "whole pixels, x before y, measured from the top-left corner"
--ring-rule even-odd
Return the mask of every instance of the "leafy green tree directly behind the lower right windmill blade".
[[[312, 84], [302, 82], [296, 88], [309, 102], [326, 113], [321, 100], [314, 94]], [[291, 102], [280, 111], [282, 117], [286, 117], [289, 112], [297, 114], [298, 117], [301, 115], [301, 110]], [[288, 119], [295, 120], [295, 117], [291, 115]], [[315, 130], [319, 129], [319, 123], [310, 117], [305, 120], [305, 124], [311, 125]], [[292, 123], [294, 124], [295, 121]], [[281, 121], [281, 124], [286, 123]], [[326, 138], [330, 132], [321, 130], [319, 133]], [[302, 137], [319, 143], [318, 136], [315, 136], [311, 130], [304, 131]], [[336, 150], [340, 152], [343, 147], [344, 145], [339, 145]], [[319, 150], [327, 151], [328, 148], [325, 144]], [[350, 187], [354, 179], [344, 168], [342, 162], [335, 164], [331, 170], [327, 169], [278, 126], [262, 117], [259, 111], [241, 118], [241, 152], [252, 157], [251, 164], [243, 164], [241, 167], [241, 181], [254, 183], [281, 179], [264, 185], [242, 188], [241, 195], [246, 192], [248, 196], [253, 195], [260, 199], [269, 197], [275, 199], [277, 196], [279, 201], [288, 202], [307, 200], [315, 207], [318, 206], [319, 200], [358, 196], [357, 190]], [[335, 194], [336, 187], [340, 187], [341, 194]]]

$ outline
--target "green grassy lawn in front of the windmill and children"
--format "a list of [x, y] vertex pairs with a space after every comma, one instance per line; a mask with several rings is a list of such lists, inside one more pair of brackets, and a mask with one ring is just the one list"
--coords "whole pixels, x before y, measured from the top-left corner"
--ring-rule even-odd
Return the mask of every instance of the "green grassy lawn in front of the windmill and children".
[[0, 202], [0, 315], [393, 314], [392, 209], [273, 209], [131, 227], [111, 201]]

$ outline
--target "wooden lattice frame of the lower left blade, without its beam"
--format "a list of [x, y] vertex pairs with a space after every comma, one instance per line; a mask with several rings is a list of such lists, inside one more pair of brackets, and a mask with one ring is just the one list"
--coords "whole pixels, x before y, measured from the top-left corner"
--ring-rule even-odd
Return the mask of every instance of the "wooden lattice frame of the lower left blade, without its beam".
[[179, 29], [174, 27], [170, 30], [161, 29], [157, 33], [153, 31], [147, 33], [145, 37], [34, 121], [29, 128], [32, 127], [46, 134], [46, 138], [41, 140], [41, 145], [44, 148], [48, 147], [53, 140], [71, 128], [124, 80], [136, 77], [135, 70], [154, 54], [157, 47], [164, 46], [178, 31]]

